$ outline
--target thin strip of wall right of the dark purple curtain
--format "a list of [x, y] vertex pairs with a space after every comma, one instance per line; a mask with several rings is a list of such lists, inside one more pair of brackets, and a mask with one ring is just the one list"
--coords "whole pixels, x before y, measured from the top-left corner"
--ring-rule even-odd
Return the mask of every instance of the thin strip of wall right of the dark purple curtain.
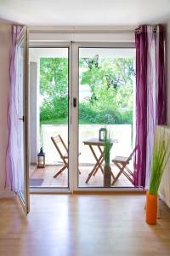
[[170, 125], [170, 20], [167, 23], [167, 125]]

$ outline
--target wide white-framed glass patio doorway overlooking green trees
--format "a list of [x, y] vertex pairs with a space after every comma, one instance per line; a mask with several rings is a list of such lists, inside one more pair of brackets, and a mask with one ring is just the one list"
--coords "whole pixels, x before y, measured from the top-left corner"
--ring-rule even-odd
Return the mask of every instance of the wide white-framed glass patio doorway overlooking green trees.
[[[134, 60], [133, 46], [32, 43], [30, 86], [39, 99], [35, 99], [37, 105], [31, 102], [30, 115], [39, 123], [36, 130], [32, 125], [35, 121], [30, 126], [31, 189], [58, 192], [104, 188], [104, 143], [99, 141], [99, 131], [106, 129], [111, 133], [111, 159], [116, 154], [128, 155], [133, 148]], [[58, 135], [66, 152], [62, 144], [57, 148], [52, 140]], [[45, 168], [37, 168], [41, 147]], [[116, 175], [115, 167], [111, 167]], [[132, 184], [121, 176], [114, 187]]]

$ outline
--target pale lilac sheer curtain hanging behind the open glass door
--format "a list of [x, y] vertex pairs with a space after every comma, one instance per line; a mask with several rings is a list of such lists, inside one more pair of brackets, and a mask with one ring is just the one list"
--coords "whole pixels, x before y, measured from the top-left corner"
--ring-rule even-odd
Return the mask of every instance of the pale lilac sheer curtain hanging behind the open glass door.
[[8, 89], [8, 145], [6, 152], [6, 180], [5, 189], [16, 191], [18, 188], [18, 172], [20, 169], [20, 134], [18, 121], [18, 84], [17, 84], [17, 39], [22, 26], [12, 26], [9, 89]]

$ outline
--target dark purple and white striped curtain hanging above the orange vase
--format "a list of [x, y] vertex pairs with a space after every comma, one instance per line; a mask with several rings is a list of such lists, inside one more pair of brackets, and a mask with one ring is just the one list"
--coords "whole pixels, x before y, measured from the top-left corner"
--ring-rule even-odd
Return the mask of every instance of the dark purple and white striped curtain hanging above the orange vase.
[[134, 185], [145, 187], [150, 180], [156, 125], [166, 124], [164, 27], [140, 26], [136, 40], [136, 146]]

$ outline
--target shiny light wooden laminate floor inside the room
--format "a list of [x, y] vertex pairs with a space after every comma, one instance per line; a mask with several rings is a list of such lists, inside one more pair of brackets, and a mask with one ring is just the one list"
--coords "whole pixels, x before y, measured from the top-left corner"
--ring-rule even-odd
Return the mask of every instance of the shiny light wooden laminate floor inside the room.
[[170, 209], [144, 221], [144, 195], [31, 195], [26, 218], [0, 200], [1, 256], [170, 255]]

